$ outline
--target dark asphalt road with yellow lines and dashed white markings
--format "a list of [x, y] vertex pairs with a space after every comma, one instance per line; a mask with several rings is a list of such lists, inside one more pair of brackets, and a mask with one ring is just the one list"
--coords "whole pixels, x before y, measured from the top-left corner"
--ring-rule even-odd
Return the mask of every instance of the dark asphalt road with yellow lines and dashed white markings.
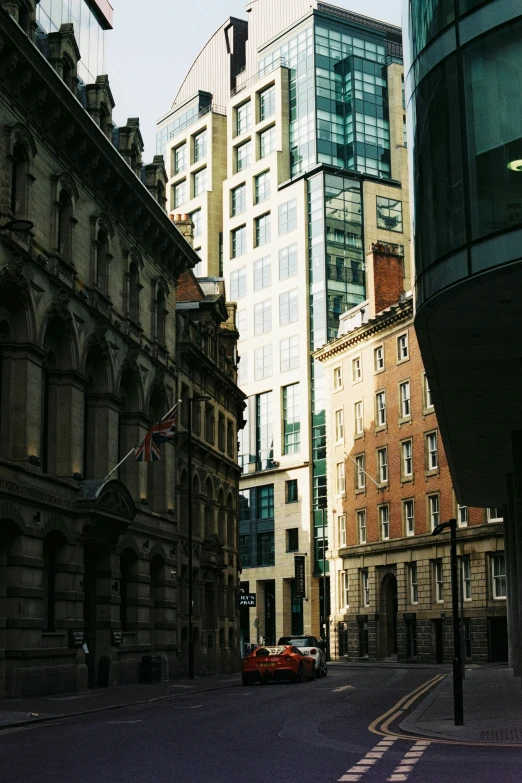
[[[386, 739], [369, 725], [440, 670], [332, 667], [8, 729], [5, 783], [521, 783], [522, 748]], [[239, 678], [238, 678], [239, 682]], [[176, 690], [178, 687], [179, 691]]]

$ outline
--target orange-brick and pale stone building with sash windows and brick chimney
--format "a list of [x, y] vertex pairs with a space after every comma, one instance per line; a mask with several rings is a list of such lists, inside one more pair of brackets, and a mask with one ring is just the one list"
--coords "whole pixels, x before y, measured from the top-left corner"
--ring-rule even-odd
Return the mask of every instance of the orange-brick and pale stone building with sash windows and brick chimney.
[[393, 246], [367, 257], [368, 299], [316, 352], [327, 373], [334, 658], [453, 658], [449, 536], [457, 519], [468, 660], [506, 660], [501, 509], [459, 505]]

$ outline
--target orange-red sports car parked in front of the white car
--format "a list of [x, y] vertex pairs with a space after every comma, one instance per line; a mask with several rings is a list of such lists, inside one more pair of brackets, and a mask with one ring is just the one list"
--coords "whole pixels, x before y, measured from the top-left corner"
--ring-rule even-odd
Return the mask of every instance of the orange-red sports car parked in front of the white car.
[[266, 685], [270, 680], [302, 682], [314, 679], [314, 668], [314, 659], [292, 645], [258, 647], [241, 661], [241, 679], [243, 685]]

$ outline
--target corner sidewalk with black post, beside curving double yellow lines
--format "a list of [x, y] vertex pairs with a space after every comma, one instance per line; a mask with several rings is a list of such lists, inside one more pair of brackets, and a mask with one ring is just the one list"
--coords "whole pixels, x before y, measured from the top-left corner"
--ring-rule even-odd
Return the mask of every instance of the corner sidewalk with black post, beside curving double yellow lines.
[[447, 740], [522, 743], [522, 688], [507, 666], [466, 667], [464, 725], [453, 722], [453, 678], [445, 677], [400, 722], [405, 733]]

